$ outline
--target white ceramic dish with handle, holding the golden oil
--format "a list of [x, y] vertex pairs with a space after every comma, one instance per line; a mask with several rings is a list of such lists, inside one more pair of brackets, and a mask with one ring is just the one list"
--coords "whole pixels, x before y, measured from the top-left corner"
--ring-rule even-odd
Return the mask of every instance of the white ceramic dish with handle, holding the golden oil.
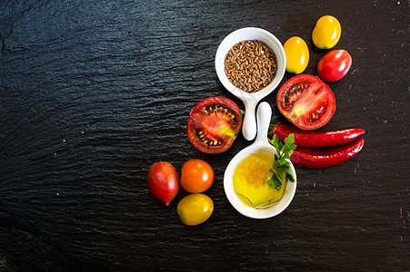
[[267, 102], [262, 102], [256, 113], [257, 136], [255, 142], [235, 155], [235, 157], [229, 162], [224, 175], [224, 189], [226, 198], [229, 202], [231, 202], [232, 206], [234, 206], [237, 211], [246, 217], [254, 219], [267, 219], [278, 215], [284, 211], [287, 206], [289, 206], [295, 196], [296, 191], [296, 172], [292, 162], [289, 161], [289, 172], [295, 178], [295, 182], [286, 183], [285, 194], [282, 199], [275, 203], [275, 205], [266, 209], [251, 208], [245, 205], [245, 203], [239, 199], [235, 193], [233, 177], [235, 168], [240, 161], [255, 152], [262, 151], [271, 155], [275, 155], [276, 153], [275, 147], [267, 141], [267, 131], [269, 130], [271, 116], [271, 106]]

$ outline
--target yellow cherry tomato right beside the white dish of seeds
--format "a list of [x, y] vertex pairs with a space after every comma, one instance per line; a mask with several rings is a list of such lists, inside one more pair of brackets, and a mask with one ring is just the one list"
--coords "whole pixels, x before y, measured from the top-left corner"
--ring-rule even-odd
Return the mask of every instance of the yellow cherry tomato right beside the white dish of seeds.
[[309, 49], [304, 39], [292, 37], [284, 44], [286, 54], [286, 71], [299, 74], [305, 71], [309, 63]]

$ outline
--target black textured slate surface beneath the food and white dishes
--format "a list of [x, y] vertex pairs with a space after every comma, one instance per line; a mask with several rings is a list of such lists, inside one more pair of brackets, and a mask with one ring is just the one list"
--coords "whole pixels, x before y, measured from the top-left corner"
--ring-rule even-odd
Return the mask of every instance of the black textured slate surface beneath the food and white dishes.
[[[296, 167], [288, 209], [245, 218], [223, 175], [251, 142], [201, 153], [185, 135], [189, 112], [211, 95], [244, 109], [214, 68], [238, 28], [283, 44], [301, 36], [315, 74], [322, 15], [338, 18], [335, 49], [353, 57], [329, 84], [336, 112], [322, 130], [363, 128], [364, 150], [332, 168]], [[1, 1], [0, 270], [410, 270], [408, 15], [406, 1], [377, 0]], [[275, 94], [264, 101], [284, 121]], [[186, 227], [175, 209], [187, 193], [165, 207], [146, 173], [193, 158], [215, 170], [205, 192], [215, 212]]]

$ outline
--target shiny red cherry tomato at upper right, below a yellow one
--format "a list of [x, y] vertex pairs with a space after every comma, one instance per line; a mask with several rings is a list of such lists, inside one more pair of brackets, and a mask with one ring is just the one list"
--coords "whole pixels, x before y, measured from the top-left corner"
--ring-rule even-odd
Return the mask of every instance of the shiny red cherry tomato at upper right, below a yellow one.
[[326, 82], [342, 79], [352, 66], [352, 57], [340, 49], [326, 53], [317, 63], [317, 74]]

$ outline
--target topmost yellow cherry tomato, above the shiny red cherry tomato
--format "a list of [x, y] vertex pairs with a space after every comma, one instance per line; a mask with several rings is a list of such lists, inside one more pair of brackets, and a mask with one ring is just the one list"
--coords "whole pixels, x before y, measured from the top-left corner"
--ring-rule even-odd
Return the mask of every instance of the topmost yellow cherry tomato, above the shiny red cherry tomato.
[[339, 21], [334, 16], [325, 15], [317, 20], [312, 40], [318, 48], [329, 49], [339, 42], [341, 32]]

